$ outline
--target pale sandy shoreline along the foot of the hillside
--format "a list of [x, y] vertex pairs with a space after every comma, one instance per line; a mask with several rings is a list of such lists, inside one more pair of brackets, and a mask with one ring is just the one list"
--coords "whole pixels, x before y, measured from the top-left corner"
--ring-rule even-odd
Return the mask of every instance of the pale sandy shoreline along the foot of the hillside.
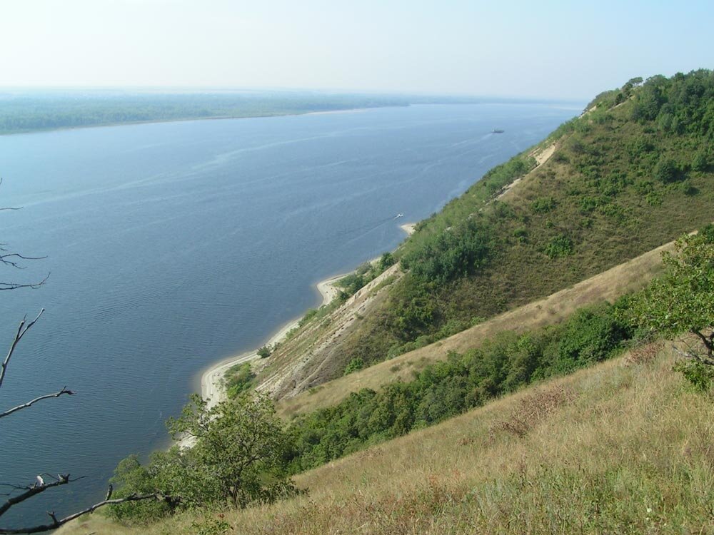
[[[409, 236], [414, 232], [415, 226], [416, 223], [403, 223], [402, 225], [399, 225], [399, 228], [403, 230], [403, 232], [406, 233], [407, 236]], [[377, 259], [373, 259], [372, 261], [374, 260]], [[320, 292], [320, 295], [322, 297], [322, 302], [318, 305], [318, 307], [328, 305], [333, 299], [335, 299], [335, 297], [337, 297], [340, 291], [340, 289], [335, 285], [335, 282], [337, 282], [343, 277], [346, 277], [347, 275], [350, 275], [353, 272], [354, 270], [346, 273], [341, 273], [339, 275], [333, 275], [317, 282], [313, 287], [315, 287], [318, 292]], [[271, 335], [271, 337], [269, 337], [263, 345], [273, 345], [275, 343], [279, 343], [285, 340], [288, 332], [298, 326], [303, 316], [304, 312], [300, 317], [293, 319], [287, 322], [282, 327], [280, 327], [277, 332]], [[201, 372], [200, 394], [201, 398], [206, 401], [206, 407], [215, 407], [216, 404], [223, 401], [223, 397], [225, 396], [225, 393], [223, 392], [223, 376], [226, 374], [226, 371], [228, 371], [228, 369], [235, 365], [242, 364], [243, 362], [251, 362], [253, 360], [259, 359], [259, 349], [260, 347], [256, 347], [253, 350], [243, 352], [239, 355], [227, 357], [223, 360], [213, 363], [213, 365]]]

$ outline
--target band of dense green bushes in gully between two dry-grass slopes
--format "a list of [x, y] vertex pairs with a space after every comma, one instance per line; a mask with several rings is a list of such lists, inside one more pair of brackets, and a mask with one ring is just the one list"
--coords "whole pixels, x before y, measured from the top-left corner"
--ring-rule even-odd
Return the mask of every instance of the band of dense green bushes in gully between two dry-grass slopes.
[[[618, 305], [620, 306], [620, 305]], [[615, 307], [580, 310], [563, 325], [517, 335], [503, 332], [465, 355], [429, 365], [411, 382], [363, 389], [334, 407], [291, 423], [292, 469], [316, 467], [386, 439], [441, 422], [538, 379], [604, 360], [633, 332]]]

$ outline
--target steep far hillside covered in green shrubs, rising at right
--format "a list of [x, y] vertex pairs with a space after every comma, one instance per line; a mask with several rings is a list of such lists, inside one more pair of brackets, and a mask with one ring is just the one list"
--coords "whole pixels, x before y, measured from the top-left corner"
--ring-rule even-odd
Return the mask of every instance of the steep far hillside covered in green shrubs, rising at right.
[[600, 94], [536, 148], [555, 144], [543, 165], [516, 156], [417, 225], [395, 254], [406, 275], [341, 342], [345, 365], [452, 335], [710, 222], [713, 141], [712, 71]]

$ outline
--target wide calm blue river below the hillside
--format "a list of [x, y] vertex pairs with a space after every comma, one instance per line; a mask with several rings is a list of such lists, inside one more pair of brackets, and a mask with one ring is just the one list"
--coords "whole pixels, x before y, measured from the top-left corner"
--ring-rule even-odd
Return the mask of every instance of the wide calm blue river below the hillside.
[[120, 459], [166, 445], [201, 370], [260, 345], [318, 304], [315, 282], [395, 248], [400, 223], [576, 113], [412, 106], [1, 137], [0, 205], [23, 209], [0, 211], [0, 241], [48, 257], [2, 280], [51, 272], [0, 294], [1, 347], [46, 308], [1, 407], [77, 394], [0, 422], [0, 481], [86, 476], [33, 501], [42, 515], [101, 499]]

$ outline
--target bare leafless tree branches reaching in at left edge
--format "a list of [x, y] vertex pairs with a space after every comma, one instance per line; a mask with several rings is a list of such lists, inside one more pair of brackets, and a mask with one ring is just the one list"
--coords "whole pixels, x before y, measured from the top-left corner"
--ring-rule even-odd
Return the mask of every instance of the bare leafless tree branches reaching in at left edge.
[[[2, 180], [0, 179], [0, 183]], [[14, 210], [16, 208], [0, 208], [0, 210]], [[39, 260], [39, 257], [28, 257], [24, 255], [20, 255], [19, 253], [11, 253], [9, 250], [6, 249], [6, 245], [0, 244], [0, 265], [3, 265], [5, 267], [14, 267], [16, 269], [23, 269], [24, 266], [19, 264], [20, 260]], [[49, 275], [48, 275], [49, 276]], [[44, 277], [43, 280], [39, 282], [34, 282], [34, 283], [18, 283], [18, 282], [0, 282], [0, 290], [16, 290], [18, 288], [37, 288], [40, 287], [41, 285], [44, 284], [44, 282], [47, 280], [47, 277]], [[3, 383], [7, 377], [7, 370], [8, 366], [10, 365], [11, 358], [13, 357], [15, 350], [17, 346], [19, 345], [19, 342], [23, 339], [23, 337], [27, 334], [27, 332], [35, 325], [37, 320], [39, 320], [40, 316], [44, 312], [44, 309], [40, 310], [39, 314], [34, 318], [34, 320], [27, 321], [27, 318], [24, 317], [22, 321], [20, 322], [20, 325], [17, 328], [17, 331], [15, 332], [15, 337], [10, 345], [10, 349], [7, 352], [7, 355], [5, 356], [4, 360], [2, 361], [2, 364], [0, 365], [0, 389], [3, 386]], [[21, 403], [19, 405], [16, 405], [14, 407], [10, 407], [9, 409], [1, 409], [0, 408], [0, 419], [4, 417], [8, 417], [11, 414], [15, 414], [16, 412], [19, 412], [23, 409], [28, 409], [29, 407], [32, 407], [34, 404], [43, 401], [44, 399], [51, 399], [55, 397], [60, 397], [63, 395], [73, 395], [74, 391], [68, 389], [67, 387], [62, 387], [59, 389], [57, 392], [51, 392], [49, 394], [43, 394], [37, 397], [34, 397], [33, 399], [30, 399], [27, 402]], [[62, 485], [67, 485], [74, 483], [75, 481], [79, 481], [83, 479], [82, 477], [70, 477], [70, 474], [47, 474], [47, 473], [41, 473], [38, 474], [34, 481], [31, 482], [31, 484], [13, 484], [13, 483], [3, 483], [0, 482], [0, 495], [1, 496], [6, 496], [6, 499], [4, 502], [0, 502], [0, 519], [1, 517], [6, 514], [12, 507], [23, 503], [24, 501], [27, 501], [34, 496], [37, 496], [38, 494], [43, 493], [47, 489], [53, 489], [56, 486], [62, 486]], [[175, 504], [175, 500], [171, 498], [171, 496], [165, 496], [164, 494], [161, 494], [159, 492], [156, 492], [154, 494], [131, 494], [130, 496], [125, 496], [124, 498], [118, 498], [118, 499], [112, 499], [111, 498], [112, 494], [112, 487], [109, 485], [109, 489], [106, 492], [106, 497], [104, 500], [99, 501], [98, 503], [91, 505], [87, 507], [86, 509], [82, 509], [81, 511], [76, 511], [73, 514], [70, 514], [68, 516], [64, 516], [63, 518], [59, 518], [56, 516], [54, 511], [48, 511], [48, 515], [50, 517], [49, 522], [46, 522], [45, 524], [34, 524], [31, 526], [23, 526], [23, 527], [17, 527], [17, 528], [10, 528], [10, 527], [3, 527], [0, 526], [0, 535], [2, 534], [29, 534], [29, 533], [41, 533], [42, 531], [50, 531], [51, 529], [57, 529], [59, 526], [62, 524], [66, 524], [67, 522], [74, 520], [78, 518], [79, 516], [82, 516], [84, 514], [89, 514], [96, 509], [99, 509], [100, 507], [104, 507], [106, 505], [110, 504], [122, 504], [126, 501], [140, 501], [140, 500], [147, 500], [147, 499], [156, 499], [156, 500], [164, 500], [168, 501], [169, 504], [173, 505]]]

